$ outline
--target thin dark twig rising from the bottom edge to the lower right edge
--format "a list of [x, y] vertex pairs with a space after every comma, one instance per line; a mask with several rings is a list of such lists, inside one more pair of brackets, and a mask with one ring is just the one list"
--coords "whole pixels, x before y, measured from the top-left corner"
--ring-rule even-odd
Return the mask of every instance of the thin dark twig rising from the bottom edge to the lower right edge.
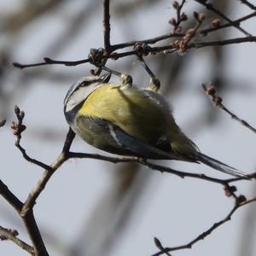
[[163, 250], [161, 250], [160, 252], [154, 253], [152, 256], [159, 256], [159, 255], [162, 255], [164, 253], [169, 253], [169, 252], [173, 252], [173, 251], [177, 251], [177, 250], [182, 250], [182, 249], [190, 249], [196, 242], [205, 239], [207, 236], [209, 236], [212, 233], [212, 231], [217, 230], [219, 226], [221, 226], [221, 225], [225, 224], [226, 222], [230, 221], [232, 215], [236, 212], [236, 210], [238, 208], [240, 208], [242, 206], [245, 206], [245, 205], [247, 205], [249, 203], [252, 203], [254, 201], [256, 201], [256, 197], [253, 197], [250, 200], [242, 201], [239, 204], [236, 204], [231, 209], [231, 211], [229, 212], [229, 214], [225, 218], [221, 219], [220, 221], [218, 221], [215, 224], [212, 224], [212, 226], [208, 230], [206, 230], [203, 233], [201, 233], [201, 235], [197, 236], [192, 241], [189, 241], [189, 243], [184, 244], [182, 246], [178, 246], [178, 247], [166, 247]]

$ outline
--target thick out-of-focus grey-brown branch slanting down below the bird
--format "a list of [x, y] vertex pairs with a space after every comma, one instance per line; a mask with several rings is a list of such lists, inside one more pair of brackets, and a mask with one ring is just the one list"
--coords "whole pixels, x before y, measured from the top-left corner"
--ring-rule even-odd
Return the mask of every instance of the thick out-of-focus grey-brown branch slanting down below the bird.
[[80, 225], [81, 232], [77, 234], [67, 256], [107, 256], [119, 245], [152, 173], [130, 163], [116, 166], [112, 174], [111, 186], [96, 201], [90, 217]]

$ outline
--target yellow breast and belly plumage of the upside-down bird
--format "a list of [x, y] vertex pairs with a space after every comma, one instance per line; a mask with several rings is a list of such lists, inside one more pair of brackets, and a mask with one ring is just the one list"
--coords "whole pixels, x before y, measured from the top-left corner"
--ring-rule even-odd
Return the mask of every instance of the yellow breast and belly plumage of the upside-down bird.
[[157, 143], [166, 132], [169, 114], [158, 102], [135, 87], [121, 89], [104, 85], [88, 96], [79, 115], [105, 119], [132, 137], [149, 144]]

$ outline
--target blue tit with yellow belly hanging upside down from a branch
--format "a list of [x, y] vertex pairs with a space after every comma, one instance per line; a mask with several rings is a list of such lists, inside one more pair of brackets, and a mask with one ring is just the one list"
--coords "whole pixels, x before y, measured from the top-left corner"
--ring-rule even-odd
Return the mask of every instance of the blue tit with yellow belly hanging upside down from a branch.
[[201, 154], [177, 126], [157, 86], [138, 88], [124, 74], [119, 84], [109, 79], [109, 74], [80, 79], [64, 100], [67, 123], [86, 143], [112, 154], [201, 162], [244, 177], [243, 172]]

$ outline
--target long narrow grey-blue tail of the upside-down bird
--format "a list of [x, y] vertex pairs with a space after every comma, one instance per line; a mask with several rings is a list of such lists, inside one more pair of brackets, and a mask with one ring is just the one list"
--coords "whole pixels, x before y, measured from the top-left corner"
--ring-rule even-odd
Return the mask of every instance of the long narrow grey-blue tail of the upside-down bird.
[[227, 166], [224, 163], [207, 156], [206, 154], [201, 154], [200, 152], [196, 152], [195, 160], [198, 160], [207, 166], [211, 166], [213, 169], [216, 169], [220, 172], [225, 172], [235, 177], [247, 177], [246, 173], [240, 172], [236, 170], [236, 168]]

